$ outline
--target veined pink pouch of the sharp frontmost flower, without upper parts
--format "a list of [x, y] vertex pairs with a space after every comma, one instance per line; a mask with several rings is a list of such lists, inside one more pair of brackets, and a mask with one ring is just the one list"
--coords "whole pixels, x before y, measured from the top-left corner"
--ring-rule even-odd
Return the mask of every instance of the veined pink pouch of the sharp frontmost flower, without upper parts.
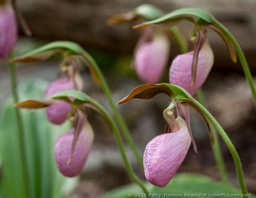
[[176, 119], [178, 130], [156, 136], [146, 146], [144, 169], [146, 180], [166, 186], [178, 171], [191, 145], [191, 137], [183, 118]]

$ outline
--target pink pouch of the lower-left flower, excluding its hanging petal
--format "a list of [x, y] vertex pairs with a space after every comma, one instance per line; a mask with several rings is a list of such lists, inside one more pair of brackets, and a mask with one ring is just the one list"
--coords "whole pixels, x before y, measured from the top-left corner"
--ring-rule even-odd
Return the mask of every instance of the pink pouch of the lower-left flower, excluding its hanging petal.
[[83, 170], [94, 136], [92, 130], [83, 128], [70, 159], [74, 132], [75, 129], [72, 129], [58, 137], [54, 149], [58, 169], [63, 175], [68, 177], [77, 176]]

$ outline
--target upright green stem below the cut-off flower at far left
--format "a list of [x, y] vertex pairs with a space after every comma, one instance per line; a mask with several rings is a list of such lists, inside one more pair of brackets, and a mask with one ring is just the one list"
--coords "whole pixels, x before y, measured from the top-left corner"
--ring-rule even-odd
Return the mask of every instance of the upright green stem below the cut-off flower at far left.
[[[9, 55], [9, 58], [12, 58], [13, 53]], [[18, 98], [18, 92], [17, 92], [17, 75], [16, 75], [16, 66], [14, 63], [9, 63], [9, 75], [10, 75], [10, 80], [11, 80], [11, 88], [12, 88], [12, 97], [14, 103], [17, 103], [19, 101]], [[19, 140], [19, 151], [21, 152], [21, 162], [22, 162], [22, 172], [23, 172], [23, 178], [25, 181], [28, 178], [28, 170], [27, 170], [27, 158], [26, 158], [26, 150], [25, 150], [25, 141], [24, 141], [24, 130], [23, 130], [23, 122], [22, 122], [22, 116], [21, 116], [21, 111], [18, 108], [14, 108], [15, 114], [16, 114], [16, 119], [17, 119], [17, 126], [18, 126], [18, 140]], [[26, 197], [29, 197], [29, 190], [28, 190], [28, 185], [27, 182], [25, 185], [25, 194]]]

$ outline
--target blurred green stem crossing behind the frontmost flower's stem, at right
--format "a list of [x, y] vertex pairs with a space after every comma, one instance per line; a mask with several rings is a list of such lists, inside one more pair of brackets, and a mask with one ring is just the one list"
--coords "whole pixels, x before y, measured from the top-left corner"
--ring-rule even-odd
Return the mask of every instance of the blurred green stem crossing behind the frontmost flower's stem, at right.
[[[207, 108], [203, 90], [199, 89], [196, 92], [196, 98], [198, 98], [198, 101], [201, 103], [201, 105], [203, 105], [204, 107]], [[214, 145], [211, 145], [211, 149], [213, 150], [214, 159], [218, 166], [221, 180], [224, 182], [224, 184], [229, 184], [228, 172], [227, 172], [225, 162], [223, 159], [223, 155], [222, 155], [221, 149], [220, 149], [219, 136], [218, 136], [218, 133], [216, 133], [215, 128], [213, 128], [212, 132], [215, 137], [215, 143], [214, 143]]]

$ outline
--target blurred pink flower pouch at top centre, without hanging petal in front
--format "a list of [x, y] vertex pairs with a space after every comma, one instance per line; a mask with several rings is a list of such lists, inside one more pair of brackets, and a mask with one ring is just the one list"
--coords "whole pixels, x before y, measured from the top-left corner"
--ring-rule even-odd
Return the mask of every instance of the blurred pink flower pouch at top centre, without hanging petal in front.
[[146, 29], [135, 50], [135, 69], [144, 82], [157, 83], [168, 62], [168, 36], [156, 29]]

